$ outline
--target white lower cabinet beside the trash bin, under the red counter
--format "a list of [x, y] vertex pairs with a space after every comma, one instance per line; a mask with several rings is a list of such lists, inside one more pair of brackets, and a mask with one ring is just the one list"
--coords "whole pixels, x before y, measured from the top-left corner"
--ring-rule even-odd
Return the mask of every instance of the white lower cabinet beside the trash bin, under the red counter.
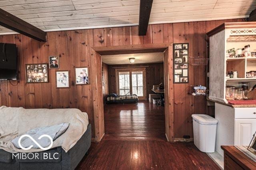
[[221, 145], [248, 146], [256, 131], [256, 107], [237, 108], [215, 103], [218, 120], [215, 150], [223, 156]]

